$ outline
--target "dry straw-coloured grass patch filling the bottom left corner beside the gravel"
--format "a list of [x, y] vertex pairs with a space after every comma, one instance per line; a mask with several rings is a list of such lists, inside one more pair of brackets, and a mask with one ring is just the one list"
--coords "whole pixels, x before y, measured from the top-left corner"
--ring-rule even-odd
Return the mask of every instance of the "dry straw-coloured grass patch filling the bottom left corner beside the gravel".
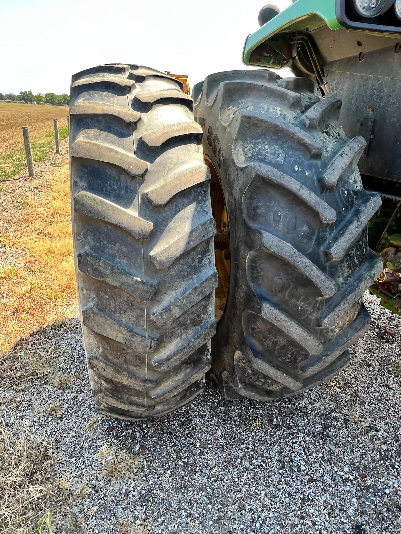
[[[61, 472], [49, 436], [33, 427], [0, 423], [0, 532], [7, 534], [51, 534], [87, 532], [87, 523], [101, 501], [86, 508], [85, 515], [73, 510], [78, 500], [88, 499], [92, 489], [82, 474]], [[66, 529], [66, 530], [64, 530]]]

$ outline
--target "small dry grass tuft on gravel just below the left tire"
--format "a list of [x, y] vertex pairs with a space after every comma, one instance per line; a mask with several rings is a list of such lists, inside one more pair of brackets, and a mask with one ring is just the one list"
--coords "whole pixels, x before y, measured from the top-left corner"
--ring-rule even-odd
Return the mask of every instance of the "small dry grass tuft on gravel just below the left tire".
[[142, 465], [137, 454], [130, 454], [119, 443], [103, 443], [97, 458], [102, 464], [101, 475], [111, 477], [113, 480], [133, 478]]

